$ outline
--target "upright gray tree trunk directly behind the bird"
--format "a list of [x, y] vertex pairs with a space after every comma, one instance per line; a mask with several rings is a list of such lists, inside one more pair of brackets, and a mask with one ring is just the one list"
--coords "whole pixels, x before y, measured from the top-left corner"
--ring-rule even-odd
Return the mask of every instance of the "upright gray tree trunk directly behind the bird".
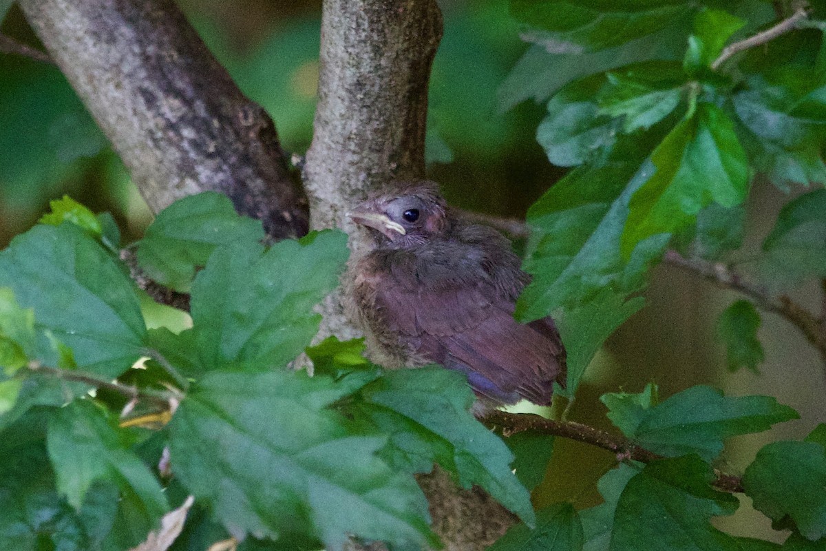
[[[345, 213], [390, 180], [425, 176], [427, 85], [441, 35], [435, 0], [324, 2], [319, 102], [304, 184], [311, 227], [347, 230], [351, 263], [363, 247]], [[344, 314], [347, 300], [328, 297], [321, 337], [358, 335]], [[458, 489], [440, 469], [417, 479], [447, 551], [482, 551], [515, 523], [487, 493]]]

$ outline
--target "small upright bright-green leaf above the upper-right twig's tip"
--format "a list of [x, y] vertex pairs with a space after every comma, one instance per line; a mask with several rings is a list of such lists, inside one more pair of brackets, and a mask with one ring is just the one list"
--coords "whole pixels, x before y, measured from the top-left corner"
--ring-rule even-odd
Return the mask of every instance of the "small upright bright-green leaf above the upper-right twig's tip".
[[743, 28], [746, 21], [729, 12], [703, 8], [694, 17], [694, 34], [688, 37], [688, 50], [683, 65], [686, 72], [710, 67], [720, 55], [726, 42]]

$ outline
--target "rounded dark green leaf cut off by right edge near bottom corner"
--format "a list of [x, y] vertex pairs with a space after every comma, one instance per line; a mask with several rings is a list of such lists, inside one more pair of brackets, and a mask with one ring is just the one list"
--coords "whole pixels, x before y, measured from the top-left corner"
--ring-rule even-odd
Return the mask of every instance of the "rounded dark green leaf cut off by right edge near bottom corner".
[[826, 449], [818, 442], [773, 442], [743, 473], [754, 508], [780, 522], [787, 515], [806, 539], [826, 535]]

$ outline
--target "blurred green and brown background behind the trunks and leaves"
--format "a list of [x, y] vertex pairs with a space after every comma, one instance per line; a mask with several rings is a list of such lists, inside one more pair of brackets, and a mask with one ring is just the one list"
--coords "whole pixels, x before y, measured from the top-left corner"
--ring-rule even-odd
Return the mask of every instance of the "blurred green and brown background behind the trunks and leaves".
[[[192, 24], [240, 88], [273, 116], [282, 145], [303, 153], [310, 144], [318, 75], [320, 2], [181, 0]], [[444, 39], [430, 83], [427, 154], [431, 178], [461, 207], [521, 217], [563, 173], [548, 163], [534, 135], [544, 106], [510, 95], [507, 78], [528, 50], [506, 0], [445, 0]], [[2, 33], [40, 47], [17, 7]], [[541, 55], [541, 53], [540, 53]], [[532, 78], [564, 81], [576, 64]], [[566, 76], [569, 74], [568, 76]], [[515, 75], [512, 78], [520, 78]], [[511, 80], [512, 83], [512, 80]], [[503, 86], [503, 84], [505, 84]], [[524, 87], [523, 87], [524, 88]], [[510, 108], [503, 108], [510, 107]], [[792, 194], [803, 190], [792, 190]], [[116, 154], [58, 69], [0, 54], [0, 245], [36, 222], [50, 199], [69, 194], [94, 211], [111, 211], [126, 240], [140, 237], [150, 212]], [[749, 204], [748, 237], [756, 247], [789, 196], [757, 182]], [[747, 245], [748, 248], [748, 245]], [[748, 254], [740, 267], [748, 272]], [[572, 409], [572, 419], [607, 427], [603, 392], [639, 392], [648, 381], [667, 397], [694, 384], [737, 395], [769, 394], [803, 419], [762, 435], [734, 439], [722, 465], [738, 472], [774, 439], [798, 439], [824, 421], [824, 366], [786, 321], [763, 317], [767, 361], [762, 374], [728, 373], [714, 323], [736, 294], [692, 274], [661, 266], [646, 293], [648, 306], [597, 354]], [[794, 298], [819, 311], [816, 286]], [[595, 503], [593, 483], [615, 461], [610, 454], [558, 439], [555, 460], [535, 492], [538, 505]], [[745, 499], [745, 498], [744, 498]], [[769, 537], [768, 521], [743, 507], [719, 524], [734, 534]]]

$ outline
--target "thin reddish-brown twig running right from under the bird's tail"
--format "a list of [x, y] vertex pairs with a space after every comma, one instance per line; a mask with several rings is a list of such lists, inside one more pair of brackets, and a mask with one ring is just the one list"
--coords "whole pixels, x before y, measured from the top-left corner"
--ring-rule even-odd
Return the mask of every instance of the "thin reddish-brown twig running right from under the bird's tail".
[[[650, 463], [664, 458], [664, 456], [644, 449], [622, 436], [612, 435], [605, 432], [605, 430], [595, 429], [592, 426], [572, 421], [545, 419], [533, 413], [508, 413], [496, 410], [484, 416], [482, 422], [488, 426], [500, 428], [506, 436], [515, 435], [525, 430], [536, 430], [546, 435], [561, 436], [584, 444], [591, 444], [616, 454], [618, 461], [633, 460], [640, 463]], [[743, 492], [743, 483], [740, 477], [716, 470], [714, 473], [716, 478], [714, 482], [711, 482], [712, 486], [724, 492]]]

